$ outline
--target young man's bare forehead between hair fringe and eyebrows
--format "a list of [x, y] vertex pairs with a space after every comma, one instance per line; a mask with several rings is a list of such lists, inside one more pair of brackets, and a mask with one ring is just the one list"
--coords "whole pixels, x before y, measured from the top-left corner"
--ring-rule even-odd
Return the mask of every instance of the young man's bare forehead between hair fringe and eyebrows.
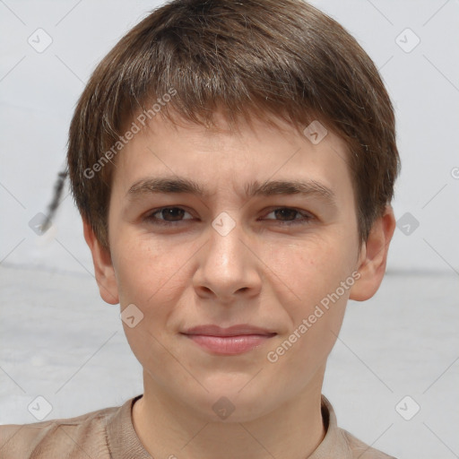
[[[133, 187], [149, 178], [167, 178], [170, 190], [178, 186], [170, 182], [174, 177], [182, 180], [184, 192], [200, 195], [225, 189], [247, 195], [266, 180], [315, 182], [323, 195], [327, 190], [333, 195], [351, 191], [342, 139], [320, 123], [304, 134], [281, 120], [276, 122], [277, 127], [254, 119], [252, 126], [230, 128], [217, 117], [214, 129], [156, 117], [118, 154], [113, 191], [117, 190], [118, 197], [128, 197]], [[324, 137], [313, 142], [317, 135]], [[183, 179], [188, 182], [185, 187]]]

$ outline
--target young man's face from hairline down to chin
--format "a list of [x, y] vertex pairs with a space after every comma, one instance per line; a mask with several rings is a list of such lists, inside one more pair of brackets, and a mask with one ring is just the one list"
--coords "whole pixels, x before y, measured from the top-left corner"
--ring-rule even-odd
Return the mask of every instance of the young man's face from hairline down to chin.
[[217, 132], [156, 117], [117, 158], [111, 258], [91, 247], [102, 297], [129, 317], [144, 394], [203, 418], [222, 396], [251, 420], [320, 391], [365, 284], [344, 143], [279, 123], [231, 132], [221, 119]]

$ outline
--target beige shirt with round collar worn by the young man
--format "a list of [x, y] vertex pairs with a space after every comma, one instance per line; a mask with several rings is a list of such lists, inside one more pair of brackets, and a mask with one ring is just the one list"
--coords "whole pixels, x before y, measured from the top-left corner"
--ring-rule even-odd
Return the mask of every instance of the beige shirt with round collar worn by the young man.
[[[119, 407], [91, 411], [71, 419], [0, 426], [0, 457], [152, 459], [137, 437], [132, 421], [132, 407], [140, 397], [142, 395], [137, 395]], [[333, 407], [324, 395], [322, 416], [326, 434], [309, 459], [391, 459], [392, 456], [338, 428]]]

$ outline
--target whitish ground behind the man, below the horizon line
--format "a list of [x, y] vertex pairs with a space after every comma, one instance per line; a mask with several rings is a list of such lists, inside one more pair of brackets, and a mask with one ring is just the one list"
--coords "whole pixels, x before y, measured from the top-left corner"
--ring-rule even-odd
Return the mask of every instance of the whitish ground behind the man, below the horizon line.
[[[458, 457], [458, 287], [455, 273], [392, 273], [350, 302], [323, 391], [342, 428], [400, 459]], [[0, 423], [36, 421], [38, 395], [53, 419], [142, 394], [117, 306], [90, 274], [0, 267], [0, 288]]]

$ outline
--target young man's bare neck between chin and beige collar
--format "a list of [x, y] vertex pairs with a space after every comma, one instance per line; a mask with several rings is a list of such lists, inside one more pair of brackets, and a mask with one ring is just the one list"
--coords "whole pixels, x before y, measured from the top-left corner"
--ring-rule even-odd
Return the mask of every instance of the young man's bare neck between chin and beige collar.
[[324, 372], [293, 399], [248, 421], [197, 417], [144, 374], [143, 397], [134, 403], [134, 429], [152, 457], [173, 459], [305, 459], [325, 437], [321, 413]]

